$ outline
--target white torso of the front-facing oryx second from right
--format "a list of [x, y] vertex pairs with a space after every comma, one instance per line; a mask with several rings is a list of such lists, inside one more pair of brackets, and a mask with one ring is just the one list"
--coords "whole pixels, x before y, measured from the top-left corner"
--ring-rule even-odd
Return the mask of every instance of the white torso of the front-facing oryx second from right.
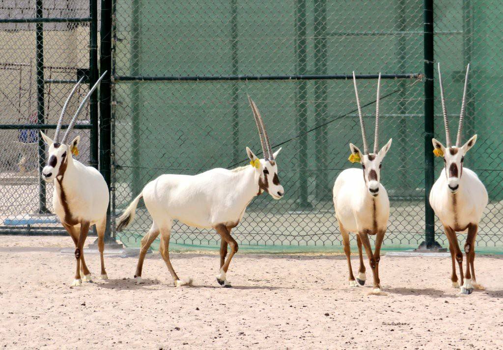
[[372, 196], [362, 169], [346, 169], [339, 174], [333, 186], [333, 205], [337, 220], [349, 232], [385, 231], [388, 226], [388, 193], [379, 183], [379, 196]]

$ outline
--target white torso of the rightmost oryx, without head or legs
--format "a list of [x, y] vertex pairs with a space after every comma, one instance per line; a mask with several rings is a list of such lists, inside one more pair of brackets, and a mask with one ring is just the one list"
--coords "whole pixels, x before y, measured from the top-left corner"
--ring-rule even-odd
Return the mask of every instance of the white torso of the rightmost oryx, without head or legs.
[[459, 190], [453, 194], [448, 188], [447, 170], [443, 168], [430, 192], [430, 205], [444, 226], [456, 232], [467, 232], [468, 225], [480, 222], [487, 206], [487, 191], [477, 174], [463, 167]]

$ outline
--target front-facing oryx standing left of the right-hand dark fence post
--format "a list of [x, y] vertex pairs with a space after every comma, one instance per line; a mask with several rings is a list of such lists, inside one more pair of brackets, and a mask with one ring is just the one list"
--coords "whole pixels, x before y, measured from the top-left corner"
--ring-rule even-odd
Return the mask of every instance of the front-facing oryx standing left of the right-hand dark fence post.
[[[379, 141], [379, 90], [381, 85], [381, 74], [379, 73], [377, 82], [376, 125], [373, 153], [369, 153], [367, 146], [367, 136], [363, 124], [360, 99], [358, 98], [355, 72], [353, 72], [353, 83], [355, 85], [356, 103], [360, 116], [364, 152], [362, 153], [358, 147], [350, 143], [351, 155], [349, 160], [351, 162], [361, 163], [362, 169], [346, 169], [339, 174], [333, 186], [333, 205], [336, 209], [336, 218], [343, 236], [344, 252], [348, 259], [349, 286], [358, 286], [351, 268], [349, 232], [353, 232], [356, 234], [358, 250], [360, 252], [360, 269], [357, 281], [363, 286], [366, 280], [362, 255], [363, 244], [374, 275], [374, 289], [371, 293], [384, 294], [381, 292], [379, 280], [379, 260], [381, 243], [388, 225], [389, 199], [386, 189], [380, 184], [380, 171], [382, 160], [391, 146], [392, 139], [389, 139], [388, 143], [386, 143], [379, 152], [377, 151]], [[376, 235], [374, 253], [372, 253], [372, 247], [370, 246], [369, 234]]]

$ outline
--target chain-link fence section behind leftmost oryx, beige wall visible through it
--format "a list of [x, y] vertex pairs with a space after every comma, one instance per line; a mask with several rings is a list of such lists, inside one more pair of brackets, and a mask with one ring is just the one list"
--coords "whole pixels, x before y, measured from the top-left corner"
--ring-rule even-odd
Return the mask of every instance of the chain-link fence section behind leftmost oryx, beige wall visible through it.
[[[39, 175], [46, 157], [39, 132], [53, 137], [77, 77], [87, 75], [89, 81], [91, 4], [96, 6], [82, 0], [0, 2], [1, 233], [65, 234], [52, 214], [53, 184]], [[87, 82], [80, 86], [63, 124], [88, 89]], [[79, 118], [78, 160], [89, 164], [89, 106]]]

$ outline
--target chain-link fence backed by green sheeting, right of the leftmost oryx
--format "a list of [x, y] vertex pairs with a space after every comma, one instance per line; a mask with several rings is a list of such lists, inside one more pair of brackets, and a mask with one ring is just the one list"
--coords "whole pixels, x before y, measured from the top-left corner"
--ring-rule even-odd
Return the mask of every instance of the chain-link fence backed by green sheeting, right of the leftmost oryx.
[[[113, 209], [119, 213], [162, 173], [246, 164], [244, 147], [260, 150], [249, 94], [264, 115], [273, 145], [283, 147], [278, 164], [286, 196], [280, 201], [256, 198], [233, 235], [241, 246], [266, 250], [339, 247], [331, 188], [340, 171], [352, 166], [348, 143], [361, 145], [353, 85], [340, 75], [353, 70], [374, 74], [358, 81], [370, 130], [377, 85], [372, 78], [382, 72], [392, 78], [382, 82], [380, 139], [393, 138], [381, 180], [391, 199], [384, 244], [416, 247], [425, 234], [425, 92], [419, 75], [424, 72], [423, 5], [409, 0], [117, 0]], [[484, 2], [477, 11], [495, 19], [495, 5]], [[491, 72], [499, 50], [491, 52], [494, 60], [479, 51], [485, 46], [488, 51], [488, 35], [495, 40], [501, 34], [489, 25], [498, 21], [482, 19], [473, 7], [468, 1], [436, 5], [435, 57], [446, 74], [453, 127], [462, 72], [467, 62], [474, 67], [465, 132], [478, 132], [479, 141], [465, 163], [490, 194], [478, 245], [499, 249], [501, 166], [493, 160], [501, 153], [501, 127], [496, 74]], [[435, 134], [443, 139], [437, 92], [435, 98]], [[488, 100], [494, 101], [489, 102], [493, 109], [485, 106]], [[435, 166], [437, 176], [442, 164]], [[138, 214], [120, 236], [129, 244], [138, 244], [151, 225], [144, 207]], [[436, 232], [446, 246], [438, 222]], [[218, 236], [175, 222], [172, 241], [216, 246]]]

